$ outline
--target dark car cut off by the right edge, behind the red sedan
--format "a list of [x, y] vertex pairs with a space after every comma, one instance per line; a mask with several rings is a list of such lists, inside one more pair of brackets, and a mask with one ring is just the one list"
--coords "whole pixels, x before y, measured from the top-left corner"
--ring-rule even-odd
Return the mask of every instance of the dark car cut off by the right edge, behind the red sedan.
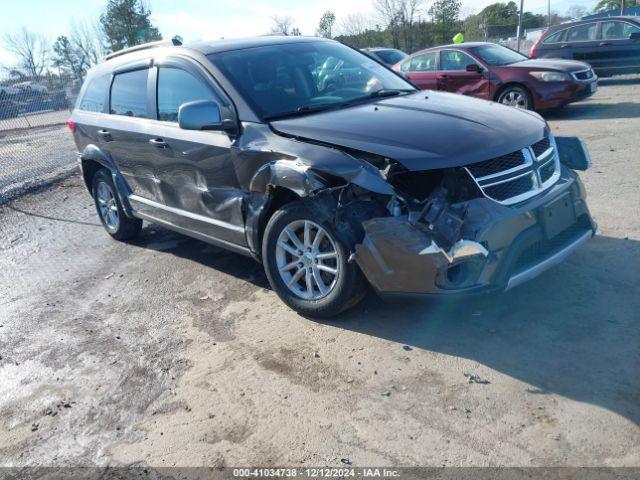
[[588, 62], [601, 77], [640, 73], [640, 18], [606, 17], [551, 27], [531, 49], [531, 57]]

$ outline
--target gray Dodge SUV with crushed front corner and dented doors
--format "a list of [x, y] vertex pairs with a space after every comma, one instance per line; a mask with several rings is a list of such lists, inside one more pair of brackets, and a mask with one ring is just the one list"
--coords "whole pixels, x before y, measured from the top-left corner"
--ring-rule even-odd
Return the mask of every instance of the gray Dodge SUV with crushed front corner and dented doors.
[[264, 264], [310, 316], [383, 295], [504, 291], [595, 232], [576, 138], [417, 90], [337, 42], [262, 37], [111, 54], [69, 121], [118, 240], [147, 220]]

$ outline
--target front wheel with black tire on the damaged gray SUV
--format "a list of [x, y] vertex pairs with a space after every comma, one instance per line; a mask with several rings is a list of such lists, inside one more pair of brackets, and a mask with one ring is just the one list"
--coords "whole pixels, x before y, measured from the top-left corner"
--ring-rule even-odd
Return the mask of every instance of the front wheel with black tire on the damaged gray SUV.
[[269, 220], [262, 242], [264, 269], [284, 303], [309, 317], [332, 317], [355, 306], [366, 293], [362, 273], [330, 224], [318, 221], [301, 202]]

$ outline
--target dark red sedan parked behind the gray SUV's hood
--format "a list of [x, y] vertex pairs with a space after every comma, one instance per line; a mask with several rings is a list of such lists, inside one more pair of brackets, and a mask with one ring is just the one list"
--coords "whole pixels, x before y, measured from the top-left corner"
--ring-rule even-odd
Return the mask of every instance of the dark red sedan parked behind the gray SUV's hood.
[[393, 67], [422, 89], [545, 110], [592, 95], [598, 79], [586, 63], [530, 60], [495, 43], [445, 45], [414, 53]]

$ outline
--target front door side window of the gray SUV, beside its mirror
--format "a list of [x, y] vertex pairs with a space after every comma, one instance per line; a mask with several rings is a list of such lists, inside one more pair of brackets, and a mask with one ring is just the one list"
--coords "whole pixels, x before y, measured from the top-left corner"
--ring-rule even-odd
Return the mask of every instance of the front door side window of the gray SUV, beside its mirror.
[[196, 100], [218, 98], [201, 80], [178, 68], [160, 68], [158, 70], [158, 119], [166, 122], [178, 121], [180, 105]]

